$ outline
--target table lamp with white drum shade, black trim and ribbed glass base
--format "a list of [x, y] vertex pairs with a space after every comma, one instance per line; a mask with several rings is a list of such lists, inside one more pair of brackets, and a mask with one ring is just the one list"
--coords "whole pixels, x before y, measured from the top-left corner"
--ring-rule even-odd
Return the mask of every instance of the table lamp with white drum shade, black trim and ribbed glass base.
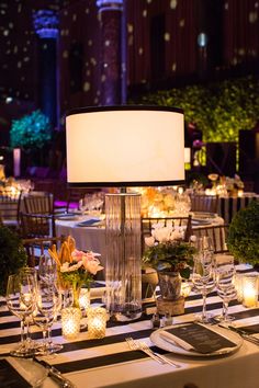
[[179, 109], [122, 105], [66, 116], [71, 187], [121, 187], [105, 195], [106, 308], [119, 321], [142, 315], [140, 195], [128, 186], [184, 182], [184, 121]]

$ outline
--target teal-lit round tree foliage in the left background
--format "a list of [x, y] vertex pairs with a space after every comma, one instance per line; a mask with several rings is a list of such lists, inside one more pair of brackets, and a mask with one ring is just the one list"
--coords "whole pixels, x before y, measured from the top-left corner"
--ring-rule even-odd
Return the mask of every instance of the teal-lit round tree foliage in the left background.
[[10, 138], [13, 148], [43, 148], [52, 138], [48, 117], [37, 110], [20, 119], [13, 119]]

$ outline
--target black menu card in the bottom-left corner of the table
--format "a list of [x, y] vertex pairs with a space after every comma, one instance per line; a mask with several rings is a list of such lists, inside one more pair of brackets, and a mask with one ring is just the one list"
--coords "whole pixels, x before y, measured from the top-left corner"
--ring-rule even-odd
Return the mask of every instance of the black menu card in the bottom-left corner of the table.
[[0, 387], [1, 388], [29, 388], [32, 387], [14, 367], [7, 361], [0, 360]]

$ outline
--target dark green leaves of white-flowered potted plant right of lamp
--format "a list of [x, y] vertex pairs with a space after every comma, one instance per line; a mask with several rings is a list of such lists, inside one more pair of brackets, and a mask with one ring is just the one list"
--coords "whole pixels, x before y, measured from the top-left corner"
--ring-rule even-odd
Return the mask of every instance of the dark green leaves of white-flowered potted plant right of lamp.
[[188, 242], [172, 240], [149, 247], [143, 255], [143, 262], [157, 271], [179, 271], [182, 277], [190, 276], [195, 248]]

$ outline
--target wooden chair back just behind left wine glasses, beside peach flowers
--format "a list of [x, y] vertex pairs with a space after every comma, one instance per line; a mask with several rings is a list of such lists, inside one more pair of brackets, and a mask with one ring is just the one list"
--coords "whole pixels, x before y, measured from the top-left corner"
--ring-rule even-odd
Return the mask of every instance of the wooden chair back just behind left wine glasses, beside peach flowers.
[[27, 254], [27, 265], [35, 266], [38, 263], [41, 255], [47, 254], [47, 250], [53, 244], [56, 244], [57, 248], [59, 248], [65, 240], [66, 236], [22, 239], [23, 247]]

